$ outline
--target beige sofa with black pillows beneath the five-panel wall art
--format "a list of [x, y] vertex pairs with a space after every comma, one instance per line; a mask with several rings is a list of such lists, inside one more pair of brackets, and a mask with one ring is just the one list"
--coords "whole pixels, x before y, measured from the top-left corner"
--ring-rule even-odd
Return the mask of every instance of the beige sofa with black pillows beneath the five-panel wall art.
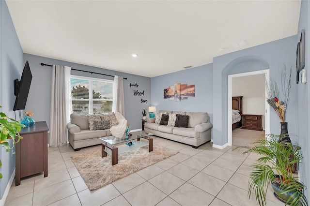
[[[160, 124], [163, 122], [161, 119], [163, 114], [169, 116], [167, 125]], [[187, 125], [185, 125], [187, 127], [178, 127], [180, 125], [175, 125], [177, 117], [187, 118], [188, 122]], [[160, 110], [156, 113], [155, 118], [148, 118], [144, 125], [145, 132], [150, 132], [159, 137], [185, 143], [193, 148], [198, 148], [202, 144], [211, 141], [212, 127], [213, 125], [210, 122], [210, 117], [206, 112], [179, 112], [166, 110]]]

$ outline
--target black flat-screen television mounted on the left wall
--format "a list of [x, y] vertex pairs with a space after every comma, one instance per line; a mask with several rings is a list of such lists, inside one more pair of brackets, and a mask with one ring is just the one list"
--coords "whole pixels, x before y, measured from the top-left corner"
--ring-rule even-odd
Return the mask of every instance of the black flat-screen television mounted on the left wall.
[[32, 74], [29, 63], [26, 61], [20, 81], [14, 80], [14, 94], [16, 95], [13, 111], [25, 109], [31, 85]]

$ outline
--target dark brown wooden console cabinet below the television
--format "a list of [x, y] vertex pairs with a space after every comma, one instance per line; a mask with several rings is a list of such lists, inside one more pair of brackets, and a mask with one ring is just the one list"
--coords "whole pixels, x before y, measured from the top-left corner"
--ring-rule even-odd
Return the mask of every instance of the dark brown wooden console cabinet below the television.
[[23, 139], [16, 144], [15, 186], [22, 177], [40, 172], [47, 177], [47, 131], [47, 123], [39, 121], [19, 132]]

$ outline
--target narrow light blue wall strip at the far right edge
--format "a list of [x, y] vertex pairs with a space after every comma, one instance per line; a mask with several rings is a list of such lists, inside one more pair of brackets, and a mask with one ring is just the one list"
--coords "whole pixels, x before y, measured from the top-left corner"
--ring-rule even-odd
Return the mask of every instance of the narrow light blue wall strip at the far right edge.
[[302, 152], [304, 156], [303, 164], [300, 165], [300, 174], [301, 180], [308, 186], [307, 197], [308, 200], [310, 198], [310, 157], [309, 157], [309, 137], [310, 137], [310, 127], [309, 127], [309, 119], [310, 119], [310, 84], [309, 84], [309, 65], [310, 65], [310, 58], [309, 58], [309, 51], [310, 51], [310, 21], [309, 21], [309, 14], [310, 14], [310, 3], [307, 0], [301, 1], [301, 9], [300, 9], [300, 16], [299, 16], [299, 25], [298, 25], [298, 34], [296, 37], [296, 44], [300, 41], [300, 34], [301, 30], [306, 30], [306, 63], [305, 68], [308, 72], [308, 82], [307, 84], [301, 84], [301, 76], [299, 77], [300, 81], [297, 85], [298, 91], [298, 141], [299, 145], [302, 147]]

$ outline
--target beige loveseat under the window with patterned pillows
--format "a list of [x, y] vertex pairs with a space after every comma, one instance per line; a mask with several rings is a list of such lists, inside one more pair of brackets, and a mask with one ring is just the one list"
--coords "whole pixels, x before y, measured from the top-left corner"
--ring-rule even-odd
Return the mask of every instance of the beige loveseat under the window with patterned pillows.
[[82, 147], [101, 144], [102, 140], [99, 138], [111, 136], [110, 128], [119, 124], [116, 116], [114, 113], [97, 115], [72, 113], [71, 120], [67, 124], [70, 145], [77, 151]]

